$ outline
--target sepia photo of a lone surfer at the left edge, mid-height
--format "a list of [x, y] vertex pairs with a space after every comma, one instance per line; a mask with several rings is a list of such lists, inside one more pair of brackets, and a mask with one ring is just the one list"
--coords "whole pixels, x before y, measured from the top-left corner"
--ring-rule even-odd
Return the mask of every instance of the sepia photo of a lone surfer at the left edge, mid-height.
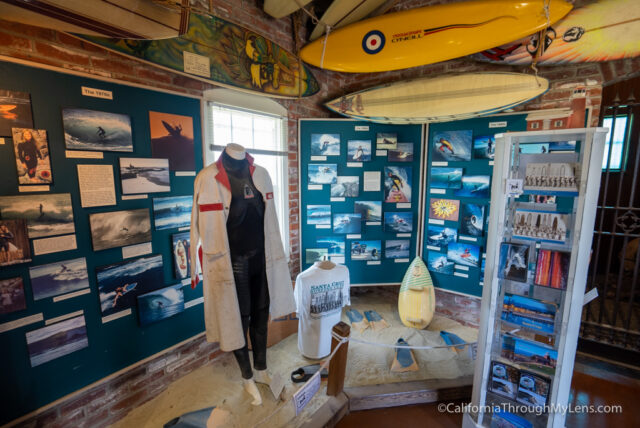
[[69, 193], [0, 196], [0, 218], [25, 219], [30, 239], [76, 231]]

